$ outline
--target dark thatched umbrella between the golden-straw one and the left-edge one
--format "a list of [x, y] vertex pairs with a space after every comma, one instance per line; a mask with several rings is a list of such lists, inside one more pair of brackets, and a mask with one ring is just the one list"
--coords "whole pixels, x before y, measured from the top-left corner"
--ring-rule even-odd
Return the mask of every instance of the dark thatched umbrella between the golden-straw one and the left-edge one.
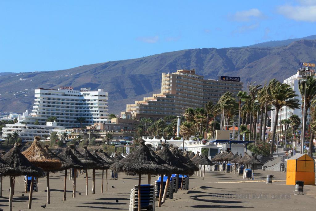
[[[43, 171], [41, 168], [38, 168], [34, 166], [21, 152], [20, 148], [21, 144], [20, 143], [15, 143], [14, 147], [10, 149], [9, 152], [7, 152], [2, 158], [3, 160], [9, 164], [10, 167], [13, 167], [17, 169], [15, 176], [22, 176], [22, 175], [27, 175], [27, 176], [32, 176], [32, 181], [31, 181], [31, 187], [30, 187], [30, 196], [29, 196], [29, 204], [28, 208], [31, 208], [31, 203], [32, 200], [32, 193], [33, 191], [33, 181], [34, 181], [34, 176], [38, 177], [43, 175]], [[12, 211], [12, 196], [13, 196], [13, 191], [14, 191], [14, 184], [13, 184], [14, 178], [10, 177], [10, 196], [9, 196], [9, 211]]]

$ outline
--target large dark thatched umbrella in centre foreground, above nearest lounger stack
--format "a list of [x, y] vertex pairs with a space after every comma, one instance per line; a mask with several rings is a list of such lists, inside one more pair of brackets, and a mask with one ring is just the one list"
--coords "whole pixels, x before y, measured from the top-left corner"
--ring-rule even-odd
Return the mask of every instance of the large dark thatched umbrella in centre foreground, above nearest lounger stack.
[[128, 154], [122, 160], [114, 163], [110, 167], [114, 172], [125, 172], [128, 175], [139, 175], [138, 177], [138, 211], [141, 208], [140, 183], [142, 174], [163, 174], [166, 167], [157, 163], [155, 158], [151, 156], [149, 148], [145, 146], [145, 141], [140, 142], [137, 149]]

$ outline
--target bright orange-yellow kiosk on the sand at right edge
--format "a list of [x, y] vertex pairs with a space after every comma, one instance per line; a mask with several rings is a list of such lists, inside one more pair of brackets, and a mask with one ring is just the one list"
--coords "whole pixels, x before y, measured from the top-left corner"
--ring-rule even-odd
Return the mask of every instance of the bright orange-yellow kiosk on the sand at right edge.
[[315, 185], [315, 161], [307, 154], [296, 154], [287, 160], [286, 184], [304, 181], [304, 185]]

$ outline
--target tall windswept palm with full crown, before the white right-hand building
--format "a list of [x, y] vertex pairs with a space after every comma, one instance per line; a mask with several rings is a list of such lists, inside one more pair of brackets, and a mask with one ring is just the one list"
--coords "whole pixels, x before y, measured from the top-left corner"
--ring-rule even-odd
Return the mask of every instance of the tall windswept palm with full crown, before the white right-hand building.
[[276, 124], [278, 122], [279, 117], [279, 110], [283, 106], [287, 106], [290, 109], [297, 109], [299, 108], [299, 101], [295, 99], [297, 94], [295, 94], [295, 91], [291, 88], [289, 84], [282, 84], [276, 79], [272, 79], [269, 83], [268, 88], [269, 95], [268, 101], [274, 105], [275, 107], [275, 117], [274, 117], [274, 124], [272, 129], [272, 141], [271, 141], [271, 147], [270, 147], [270, 156], [272, 157], [272, 153], [274, 150], [274, 141], [275, 141], [275, 135], [276, 135]]

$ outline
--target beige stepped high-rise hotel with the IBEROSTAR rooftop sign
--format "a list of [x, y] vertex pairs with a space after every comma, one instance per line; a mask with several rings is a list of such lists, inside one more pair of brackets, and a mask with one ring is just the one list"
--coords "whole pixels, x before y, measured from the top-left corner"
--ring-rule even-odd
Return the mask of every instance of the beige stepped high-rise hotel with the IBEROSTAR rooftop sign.
[[161, 93], [127, 104], [122, 117], [131, 114], [137, 119], [158, 120], [168, 115], [183, 115], [187, 108], [201, 108], [208, 101], [216, 103], [227, 91], [236, 96], [243, 88], [238, 77], [221, 76], [219, 79], [204, 79], [195, 74], [194, 69], [162, 73]]

